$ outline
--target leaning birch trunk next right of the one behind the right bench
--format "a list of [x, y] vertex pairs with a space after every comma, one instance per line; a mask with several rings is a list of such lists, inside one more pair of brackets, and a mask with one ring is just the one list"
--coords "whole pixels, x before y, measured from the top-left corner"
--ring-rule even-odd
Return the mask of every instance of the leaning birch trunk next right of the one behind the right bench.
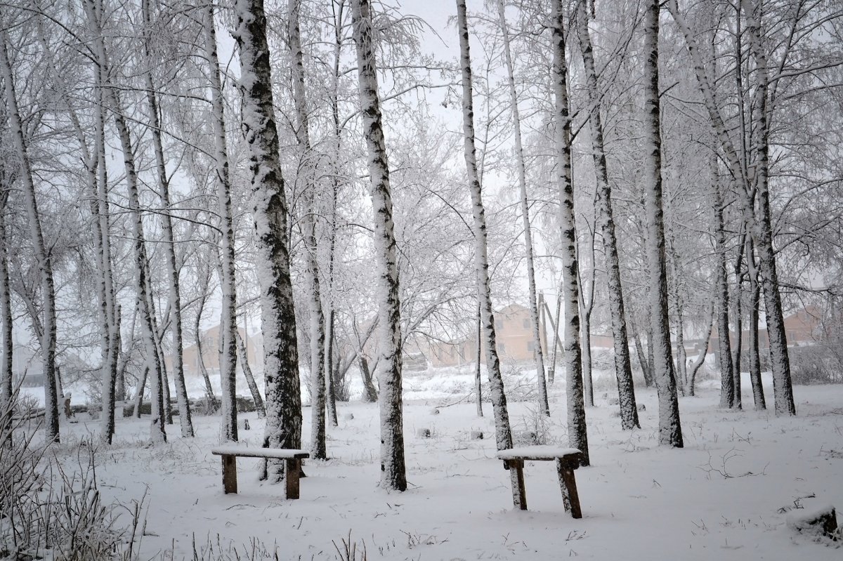
[[631, 430], [641, 425], [638, 422], [635, 386], [632, 383], [632, 364], [626, 334], [623, 286], [620, 282], [620, 259], [618, 258], [618, 243], [615, 237], [615, 219], [612, 214], [612, 190], [609, 184], [609, 170], [606, 165], [603, 142], [603, 125], [600, 118], [600, 91], [597, 83], [597, 71], [594, 67], [591, 37], [588, 35], [588, 15], [584, 4], [579, 3], [577, 9], [577, 28], [580, 51], [583, 54], [583, 66], [585, 67], [586, 92], [590, 107], [588, 121], [591, 127], [594, 169], [597, 176], [597, 206], [600, 231], [603, 234], [606, 273], [609, 280], [609, 311], [612, 316], [612, 339], [615, 344], [615, 377], [618, 381], [620, 425], [625, 430]]

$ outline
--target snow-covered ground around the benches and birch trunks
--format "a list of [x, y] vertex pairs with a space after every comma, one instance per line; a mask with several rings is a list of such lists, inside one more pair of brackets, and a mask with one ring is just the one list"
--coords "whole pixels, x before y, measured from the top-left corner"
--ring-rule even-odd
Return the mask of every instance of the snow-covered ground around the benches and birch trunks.
[[[434, 378], [406, 385], [447, 384]], [[551, 387], [547, 421], [537, 422], [530, 403], [510, 403], [513, 430], [538, 430], [548, 443], [566, 445], [560, 385]], [[711, 385], [696, 398], [680, 398], [683, 450], [657, 446], [654, 391], [638, 390], [647, 409], [633, 432], [620, 430], [616, 406], [598, 393], [587, 412], [593, 465], [576, 472], [582, 520], [563, 510], [552, 462], [528, 462], [529, 510], [513, 510], [507, 472], [494, 459], [491, 405], [478, 418], [474, 403], [448, 405], [462, 397], [453, 394], [405, 403], [405, 493], [377, 487], [378, 411], [370, 403], [339, 404], [340, 426], [329, 429], [331, 459], [306, 462], [301, 500], [284, 500], [281, 486], [258, 481], [258, 460], [249, 458], [238, 460], [239, 494], [223, 494], [219, 457], [209, 453], [217, 443], [215, 417], [194, 417], [194, 439], [180, 438], [178, 425], [170, 425], [169, 443], [153, 447], [145, 441], [148, 419], [118, 419], [115, 446], [98, 452], [97, 476], [106, 502], [146, 497], [145, 559], [192, 558], [194, 541], [198, 550], [209, 543], [217, 552], [236, 548], [240, 558], [260, 543], [277, 547], [279, 559], [342, 559], [334, 544], [344, 550], [350, 536], [357, 559], [365, 548], [369, 560], [839, 561], [838, 544], [799, 535], [786, 520], [801, 508], [843, 508], [843, 386], [796, 387], [798, 416], [777, 419], [752, 410], [746, 392], [749, 410], [717, 409]], [[309, 418], [305, 408], [305, 442]], [[262, 421], [255, 414], [241, 419], [251, 427], [241, 440], [260, 446]], [[420, 428], [432, 437], [416, 436]], [[470, 430], [486, 439], [470, 440]], [[95, 441], [98, 431], [97, 421], [63, 425], [61, 461], [78, 466], [79, 442]]]

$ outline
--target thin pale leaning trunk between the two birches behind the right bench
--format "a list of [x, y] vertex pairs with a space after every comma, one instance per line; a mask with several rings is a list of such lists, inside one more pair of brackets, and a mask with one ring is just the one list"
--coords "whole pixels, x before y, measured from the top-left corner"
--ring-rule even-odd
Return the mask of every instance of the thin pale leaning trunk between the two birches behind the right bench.
[[[510, 111], [513, 114], [513, 133], [515, 141], [515, 163], [518, 169], [518, 192], [521, 202], [521, 222], [524, 227], [524, 251], [527, 261], [527, 286], [529, 291], [530, 327], [533, 330], [535, 345], [534, 359], [536, 384], [539, 389], [539, 407], [541, 413], [550, 415], [550, 404], [547, 401], [547, 383], [545, 382], [545, 358], [541, 351], [541, 335], [539, 327], [539, 304], [535, 290], [535, 265], [533, 259], [533, 234], [529, 220], [529, 201], [527, 200], [527, 170], [524, 163], [524, 147], [521, 142], [521, 116], [518, 112], [518, 91], [515, 87], [515, 67], [509, 47], [509, 29], [504, 13], [503, 0], [497, 0], [497, 18], [503, 36], [503, 59], [507, 67], [507, 83], [509, 87]], [[585, 464], [588, 465], [588, 464]]]

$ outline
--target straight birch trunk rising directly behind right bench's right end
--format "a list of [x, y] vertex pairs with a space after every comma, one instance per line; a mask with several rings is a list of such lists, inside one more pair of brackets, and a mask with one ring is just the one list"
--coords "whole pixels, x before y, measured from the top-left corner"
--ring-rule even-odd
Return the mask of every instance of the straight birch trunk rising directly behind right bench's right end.
[[[580, 347], [579, 266], [577, 264], [577, 222], [571, 169], [571, 118], [568, 110], [565, 60], [565, 16], [561, 0], [551, 3], [551, 48], [553, 49], [553, 93], [556, 104], [556, 181], [559, 185], [562, 293], [565, 301], [565, 361], [568, 446], [583, 452], [581, 465], [591, 465], [588, 456], [583, 355]], [[554, 340], [556, 345], [556, 340]]]

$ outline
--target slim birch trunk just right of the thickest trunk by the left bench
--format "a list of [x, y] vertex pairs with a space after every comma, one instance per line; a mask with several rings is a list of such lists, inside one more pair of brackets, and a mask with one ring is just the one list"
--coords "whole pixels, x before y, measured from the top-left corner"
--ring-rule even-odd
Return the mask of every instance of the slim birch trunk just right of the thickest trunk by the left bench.
[[[293, 59], [293, 104], [296, 108], [295, 132], [299, 148], [298, 170], [303, 174], [303, 198], [308, 202], [307, 214], [303, 218], [304, 259], [309, 291], [310, 312], [310, 454], [318, 460], [327, 459], [325, 450], [325, 314], [322, 311], [322, 297], [319, 287], [319, 261], [316, 242], [316, 185], [314, 168], [309, 162], [314, 155], [310, 150], [308, 109], [304, 92], [304, 54], [298, 29], [298, 7], [301, 0], [289, 0], [288, 44]], [[330, 378], [330, 371], [327, 376]], [[335, 414], [336, 417], [336, 414]]]

